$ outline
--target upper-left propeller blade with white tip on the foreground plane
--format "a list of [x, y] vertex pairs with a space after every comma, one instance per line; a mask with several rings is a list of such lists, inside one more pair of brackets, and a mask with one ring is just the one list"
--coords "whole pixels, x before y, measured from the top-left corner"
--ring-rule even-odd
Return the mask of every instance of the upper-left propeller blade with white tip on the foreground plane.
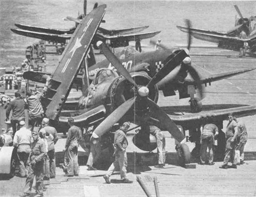
[[100, 48], [102, 53], [106, 56], [106, 59], [117, 69], [117, 71], [123, 75], [131, 84], [138, 88], [137, 84], [131, 77], [130, 73], [121, 64], [120, 60], [112, 53], [112, 51], [101, 41], [97, 42], [97, 47]]

